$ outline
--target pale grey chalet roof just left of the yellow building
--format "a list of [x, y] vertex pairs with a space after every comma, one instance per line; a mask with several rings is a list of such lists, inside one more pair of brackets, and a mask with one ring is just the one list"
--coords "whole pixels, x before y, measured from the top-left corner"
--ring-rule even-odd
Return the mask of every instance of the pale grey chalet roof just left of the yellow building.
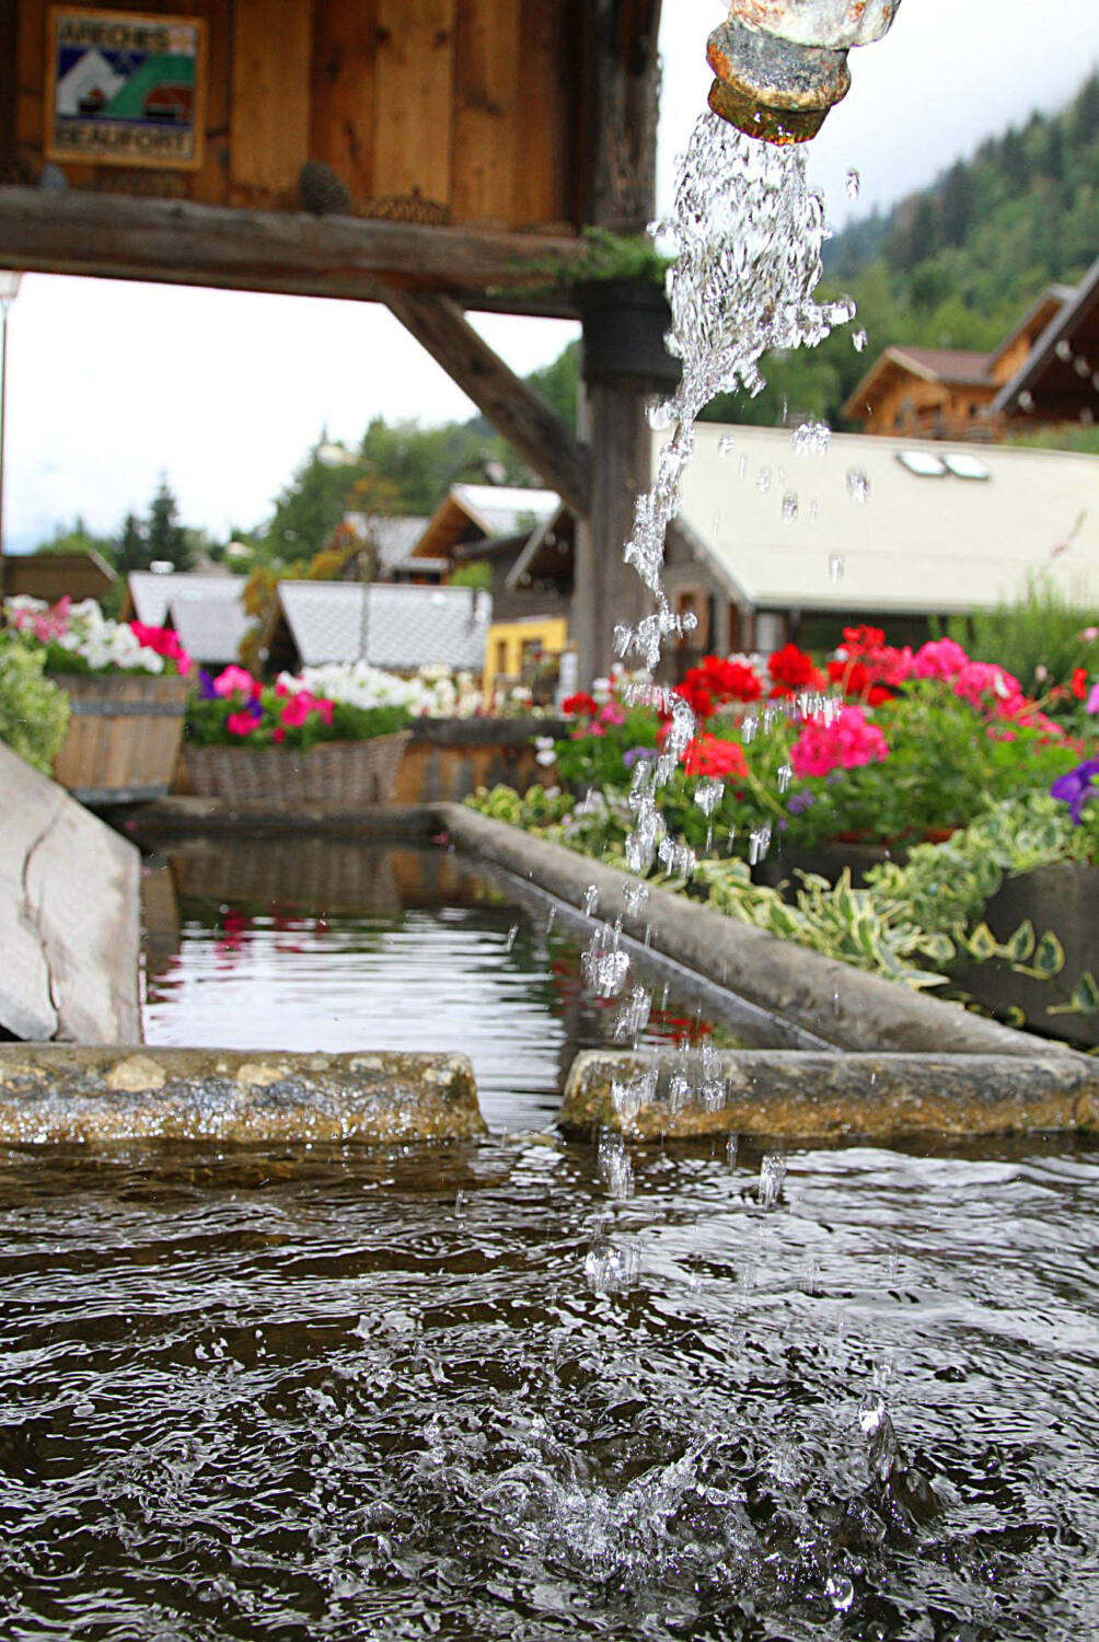
[[485, 665], [493, 601], [470, 588], [279, 581], [278, 604], [304, 667], [360, 658], [396, 672]]

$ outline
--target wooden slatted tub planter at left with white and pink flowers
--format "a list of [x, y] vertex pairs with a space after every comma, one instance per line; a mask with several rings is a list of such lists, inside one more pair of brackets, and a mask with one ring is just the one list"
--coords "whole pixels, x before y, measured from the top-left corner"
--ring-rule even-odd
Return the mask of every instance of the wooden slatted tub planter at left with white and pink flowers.
[[84, 805], [133, 805], [171, 788], [187, 680], [151, 673], [54, 673], [72, 716], [54, 780]]

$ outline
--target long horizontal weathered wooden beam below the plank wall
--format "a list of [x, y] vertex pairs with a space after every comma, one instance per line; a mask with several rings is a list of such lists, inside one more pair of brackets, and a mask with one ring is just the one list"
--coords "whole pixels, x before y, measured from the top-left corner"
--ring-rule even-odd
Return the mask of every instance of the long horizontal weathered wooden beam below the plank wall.
[[[0, 261], [46, 274], [97, 274], [319, 297], [384, 300], [393, 286], [444, 291], [465, 305], [485, 292], [524, 312], [522, 287], [545, 284], [545, 259], [583, 241], [508, 230], [437, 228], [366, 217], [309, 217], [71, 189], [0, 187]], [[536, 271], [532, 271], [532, 264]], [[572, 315], [567, 299], [540, 312]]]

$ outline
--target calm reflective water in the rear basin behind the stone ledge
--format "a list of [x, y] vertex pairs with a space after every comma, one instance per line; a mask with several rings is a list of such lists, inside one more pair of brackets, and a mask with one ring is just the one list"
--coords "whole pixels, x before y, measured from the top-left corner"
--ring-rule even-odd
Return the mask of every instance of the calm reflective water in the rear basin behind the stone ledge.
[[493, 1126], [552, 1121], [573, 1056], [616, 1030], [626, 1046], [797, 1041], [657, 967], [647, 1023], [619, 1020], [583, 993], [563, 915], [444, 849], [204, 839], [146, 874], [145, 908], [148, 1043], [462, 1051]]

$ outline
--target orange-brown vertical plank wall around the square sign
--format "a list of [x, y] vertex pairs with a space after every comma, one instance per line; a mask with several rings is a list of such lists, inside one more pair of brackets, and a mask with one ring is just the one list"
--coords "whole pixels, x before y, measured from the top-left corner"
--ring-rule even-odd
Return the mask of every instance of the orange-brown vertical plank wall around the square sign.
[[[30, 179], [43, 164], [48, 3], [15, 5], [16, 163]], [[66, 163], [69, 187], [294, 210], [299, 169], [314, 159], [361, 215], [578, 223], [586, 0], [135, 0], [133, 10], [207, 21], [202, 169]]]

